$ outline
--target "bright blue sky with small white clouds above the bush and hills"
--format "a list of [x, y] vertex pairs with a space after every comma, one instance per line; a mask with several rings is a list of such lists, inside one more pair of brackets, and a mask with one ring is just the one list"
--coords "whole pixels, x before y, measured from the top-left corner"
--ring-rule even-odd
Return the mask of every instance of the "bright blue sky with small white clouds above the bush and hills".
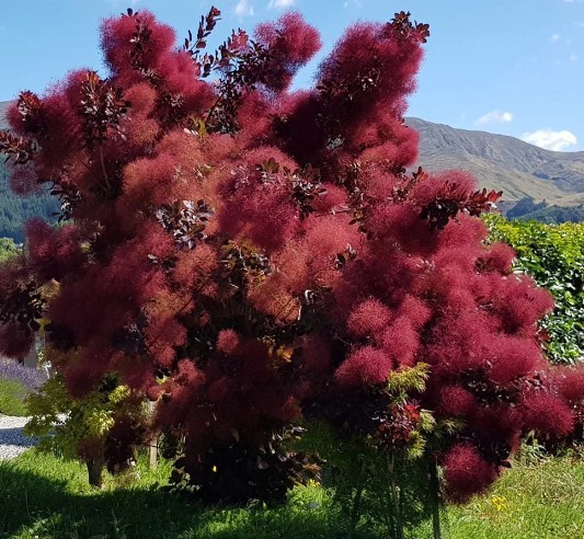
[[[98, 26], [127, 7], [150, 9], [179, 38], [196, 30], [201, 0], [0, 1], [0, 101], [42, 93], [73, 68], [101, 70]], [[357, 20], [406, 10], [431, 25], [409, 115], [465, 129], [511, 135], [554, 150], [584, 150], [584, 0], [215, 0], [231, 27], [296, 9], [332, 48]], [[295, 84], [308, 87], [319, 58]]]

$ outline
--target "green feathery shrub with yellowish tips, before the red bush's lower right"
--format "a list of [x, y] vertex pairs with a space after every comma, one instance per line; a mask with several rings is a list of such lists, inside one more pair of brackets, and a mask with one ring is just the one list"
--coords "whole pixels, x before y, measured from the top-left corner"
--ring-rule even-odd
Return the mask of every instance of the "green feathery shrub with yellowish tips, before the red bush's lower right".
[[363, 520], [382, 524], [387, 537], [401, 539], [406, 529], [433, 515], [439, 518], [436, 461], [428, 445], [436, 447], [440, 429], [451, 434], [457, 425], [438, 425], [416, 403], [427, 378], [428, 366], [420, 363], [392, 371], [385, 386], [345, 405], [321, 403], [321, 421], [298, 444], [324, 460], [323, 484], [334, 488], [351, 535]]

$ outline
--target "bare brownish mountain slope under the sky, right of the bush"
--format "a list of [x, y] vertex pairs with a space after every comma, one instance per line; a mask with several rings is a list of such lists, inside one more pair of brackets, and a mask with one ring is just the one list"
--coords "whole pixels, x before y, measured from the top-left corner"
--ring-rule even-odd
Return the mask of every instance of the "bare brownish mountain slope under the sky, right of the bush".
[[[420, 164], [431, 171], [468, 170], [481, 187], [503, 191], [505, 209], [529, 200], [547, 207], [584, 211], [584, 151], [549, 151], [523, 140], [456, 129], [419, 118], [405, 123], [420, 133]], [[538, 204], [539, 203], [539, 204]]]

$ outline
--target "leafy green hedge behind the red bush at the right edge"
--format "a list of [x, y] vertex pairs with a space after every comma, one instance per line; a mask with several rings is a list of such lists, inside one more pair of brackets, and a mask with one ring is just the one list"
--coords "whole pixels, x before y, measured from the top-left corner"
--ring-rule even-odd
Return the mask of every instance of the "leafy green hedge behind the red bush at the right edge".
[[556, 309], [541, 323], [550, 335], [548, 355], [561, 364], [584, 362], [584, 222], [543, 225], [485, 218], [491, 241], [517, 252], [515, 270], [526, 272], [556, 298]]

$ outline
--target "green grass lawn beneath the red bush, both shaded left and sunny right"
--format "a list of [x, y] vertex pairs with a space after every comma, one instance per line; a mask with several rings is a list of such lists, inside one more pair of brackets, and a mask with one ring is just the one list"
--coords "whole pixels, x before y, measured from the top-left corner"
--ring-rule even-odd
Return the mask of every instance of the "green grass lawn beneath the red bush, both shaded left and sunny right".
[[[342, 520], [320, 488], [297, 489], [286, 505], [203, 508], [162, 492], [168, 465], [138, 465], [140, 478], [103, 491], [84, 468], [27, 451], [0, 463], [0, 537], [15, 538], [341, 538]], [[375, 530], [356, 537], [381, 538]], [[411, 538], [424, 539], [419, 530]], [[495, 490], [450, 507], [445, 539], [584, 539], [584, 462], [556, 459], [516, 466]]]

